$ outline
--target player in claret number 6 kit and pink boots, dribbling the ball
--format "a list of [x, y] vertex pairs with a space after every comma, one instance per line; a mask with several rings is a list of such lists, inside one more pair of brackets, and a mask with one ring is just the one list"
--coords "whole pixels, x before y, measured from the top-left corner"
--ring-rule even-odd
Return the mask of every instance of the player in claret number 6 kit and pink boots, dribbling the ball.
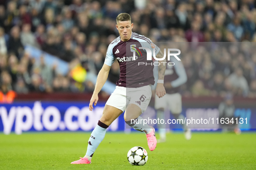
[[[157, 58], [163, 58], [164, 55], [159, 47], [154, 45], [149, 38], [132, 32], [133, 23], [131, 17], [127, 13], [121, 13], [117, 16], [117, 30], [120, 34], [108, 47], [107, 55], [102, 69], [100, 70], [94, 93], [91, 97], [89, 109], [94, 109], [98, 101], [98, 93], [107, 80], [110, 66], [117, 58], [120, 65], [120, 79], [117, 81], [116, 89], [110, 95], [103, 110], [103, 115], [98, 121], [97, 126], [92, 131], [87, 145], [87, 152], [84, 157], [78, 161], [71, 162], [71, 164], [91, 164], [91, 157], [96, 148], [104, 139], [107, 128], [110, 124], [120, 116], [123, 111], [124, 120], [126, 124], [134, 129], [145, 132], [150, 151], [156, 148], [155, 129], [149, 125], [139, 123], [142, 120], [140, 114], [143, 113], [151, 99], [152, 91], [151, 85], [154, 85], [153, 65], [138, 65], [138, 62], [146, 63], [146, 50], [141, 50], [141, 57], [135, 57], [133, 60], [133, 51], [135, 47], [147, 47], [155, 52]], [[132, 45], [126, 45], [131, 43]], [[135, 53], [135, 52], [134, 52]], [[165, 62], [166, 60], [162, 60]], [[159, 65], [159, 83], [156, 86], [156, 95], [162, 98], [165, 95], [165, 88], [163, 86], [163, 79], [165, 73], [165, 66]], [[131, 121], [136, 120], [136, 121]]]

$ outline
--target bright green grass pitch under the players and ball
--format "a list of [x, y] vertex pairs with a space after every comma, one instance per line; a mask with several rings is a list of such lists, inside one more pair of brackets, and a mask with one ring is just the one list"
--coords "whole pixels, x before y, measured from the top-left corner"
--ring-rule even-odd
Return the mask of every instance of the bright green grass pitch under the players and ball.
[[[182, 133], [170, 133], [167, 142], [149, 151], [146, 135], [107, 132], [92, 164], [70, 164], [83, 157], [90, 133], [36, 132], [0, 134], [0, 170], [170, 170], [256, 169], [256, 134], [200, 133], [186, 141]], [[132, 166], [127, 152], [142, 146], [149, 159]]]

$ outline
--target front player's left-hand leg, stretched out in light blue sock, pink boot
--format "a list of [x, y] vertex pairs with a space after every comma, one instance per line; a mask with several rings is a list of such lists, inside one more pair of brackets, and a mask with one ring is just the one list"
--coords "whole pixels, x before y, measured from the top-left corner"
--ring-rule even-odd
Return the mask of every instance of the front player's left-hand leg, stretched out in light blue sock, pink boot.
[[100, 145], [100, 142], [104, 139], [107, 127], [117, 119], [123, 111], [117, 109], [116, 107], [105, 105], [103, 110], [103, 115], [101, 116], [97, 126], [92, 131], [91, 136], [88, 141], [86, 155], [78, 161], [74, 161], [71, 164], [90, 164], [91, 157], [93, 156], [95, 150]]

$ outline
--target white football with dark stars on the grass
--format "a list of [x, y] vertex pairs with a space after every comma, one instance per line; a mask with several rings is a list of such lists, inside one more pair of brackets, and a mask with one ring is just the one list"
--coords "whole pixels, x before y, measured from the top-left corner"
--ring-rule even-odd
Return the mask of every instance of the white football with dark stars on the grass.
[[144, 148], [135, 146], [128, 151], [127, 159], [131, 165], [142, 166], [148, 161], [148, 153]]

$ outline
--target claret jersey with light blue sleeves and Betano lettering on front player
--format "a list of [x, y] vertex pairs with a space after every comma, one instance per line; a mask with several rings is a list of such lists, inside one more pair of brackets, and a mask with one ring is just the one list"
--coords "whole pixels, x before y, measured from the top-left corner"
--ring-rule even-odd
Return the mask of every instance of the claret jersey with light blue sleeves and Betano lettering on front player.
[[[136, 47], [136, 48], [135, 48]], [[117, 86], [138, 88], [145, 85], [154, 85], [153, 65], [140, 65], [139, 62], [147, 62], [146, 51], [139, 47], [147, 47], [152, 51], [155, 50], [157, 55], [160, 51], [159, 47], [152, 43], [149, 38], [132, 32], [132, 36], [128, 41], [121, 41], [120, 37], [116, 38], [107, 49], [105, 64], [111, 66], [115, 59], [120, 65], [120, 79]], [[136, 60], [133, 60], [133, 53], [136, 53]], [[151, 62], [151, 61], [150, 61]]]

